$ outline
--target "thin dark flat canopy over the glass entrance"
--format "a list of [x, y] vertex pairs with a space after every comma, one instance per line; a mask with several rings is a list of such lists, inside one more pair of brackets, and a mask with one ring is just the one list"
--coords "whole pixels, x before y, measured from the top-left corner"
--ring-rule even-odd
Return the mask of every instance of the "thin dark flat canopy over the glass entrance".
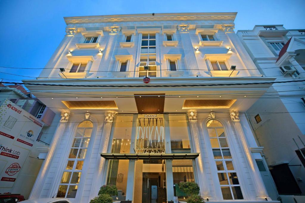
[[101, 153], [105, 159], [196, 159], [199, 153], [178, 153], [178, 154], [119, 154]]

